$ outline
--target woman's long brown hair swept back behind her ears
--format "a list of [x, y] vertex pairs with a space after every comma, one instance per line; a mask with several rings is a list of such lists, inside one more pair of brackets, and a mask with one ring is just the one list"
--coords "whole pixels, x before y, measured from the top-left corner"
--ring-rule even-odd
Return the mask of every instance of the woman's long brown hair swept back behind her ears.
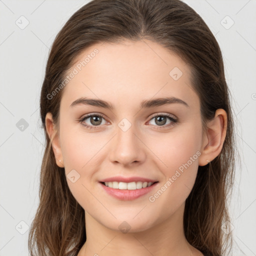
[[[58, 127], [63, 89], [59, 85], [74, 59], [98, 42], [149, 39], [177, 53], [190, 66], [192, 87], [200, 99], [203, 130], [215, 110], [227, 113], [227, 131], [220, 154], [198, 166], [195, 184], [185, 201], [184, 233], [198, 250], [219, 256], [232, 244], [228, 195], [232, 190], [236, 145], [233, 114], [219, 45], [202, 18], [179, 0], [92, 0], [77, 10], [56, 35], [50, 49], [40, 95], [45, 132], [39, 206], [29, 230], [31, 255], [77, 255], [86, 241], [84, 209], [69, 191], [63, 168], [56, 165], [45, 128], [52, 113]], [[61, 88], [57, 93], [56, 88]]]

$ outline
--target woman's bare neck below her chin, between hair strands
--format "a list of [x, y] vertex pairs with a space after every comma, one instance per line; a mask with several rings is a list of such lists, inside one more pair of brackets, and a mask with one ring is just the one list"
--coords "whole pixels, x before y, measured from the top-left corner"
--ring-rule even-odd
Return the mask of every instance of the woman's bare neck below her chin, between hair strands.
[[103, 226], [85, 211], [86, 242], [78, 256], [201, 256], [185, 238], [183, 212], [184, 204], [169, 218], [144, 231], [122, 233]]

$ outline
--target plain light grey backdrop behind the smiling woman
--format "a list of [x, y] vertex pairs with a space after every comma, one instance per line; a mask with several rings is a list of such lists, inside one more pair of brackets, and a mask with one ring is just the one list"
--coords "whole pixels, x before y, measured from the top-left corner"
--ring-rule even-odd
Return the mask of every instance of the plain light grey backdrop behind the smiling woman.
[[[65, 21], [87, 2], [0, 0], [0, 256], [28, 255], [44, 150], [39, 95], [48, 51]], [[256, 0], [185, 2], [223, 54], [240, 153], [229, 205], [233, 255], [256, 255]]]

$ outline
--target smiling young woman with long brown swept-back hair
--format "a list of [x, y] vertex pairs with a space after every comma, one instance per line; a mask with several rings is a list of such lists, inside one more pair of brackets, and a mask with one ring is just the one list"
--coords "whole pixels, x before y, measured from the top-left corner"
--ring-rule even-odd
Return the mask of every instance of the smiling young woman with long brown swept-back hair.
[[82, 6], [46, 65], [30, 254], [225, 253], [235, 152], [229, 97], [218, 43], [187, 4]]

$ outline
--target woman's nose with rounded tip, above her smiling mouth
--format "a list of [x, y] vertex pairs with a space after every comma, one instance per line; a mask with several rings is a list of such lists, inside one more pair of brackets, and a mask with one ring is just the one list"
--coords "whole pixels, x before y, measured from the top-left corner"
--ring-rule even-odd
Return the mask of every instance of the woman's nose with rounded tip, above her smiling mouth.
[[127, 166], [135, 162], [139, 164], [145, 160], [146, 146], [136, 133], [133, 125], [126, 131], [120, 127], [116, 128], [116, 135], [110, 144], [109, 158], [111, 162]]

